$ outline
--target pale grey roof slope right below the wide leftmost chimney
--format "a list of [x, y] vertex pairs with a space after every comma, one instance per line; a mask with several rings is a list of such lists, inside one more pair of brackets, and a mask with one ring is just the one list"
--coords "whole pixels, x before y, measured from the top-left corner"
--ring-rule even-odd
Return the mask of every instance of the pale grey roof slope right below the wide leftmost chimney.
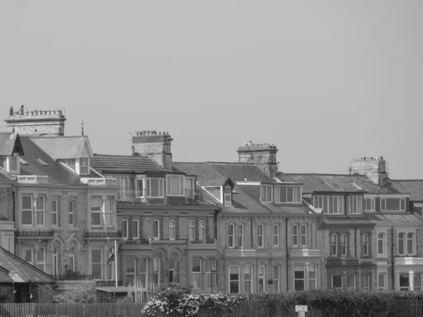
[[87, 136], [77, 137], [31, 137], [53, 159], [92, 158], [90, 140]]

